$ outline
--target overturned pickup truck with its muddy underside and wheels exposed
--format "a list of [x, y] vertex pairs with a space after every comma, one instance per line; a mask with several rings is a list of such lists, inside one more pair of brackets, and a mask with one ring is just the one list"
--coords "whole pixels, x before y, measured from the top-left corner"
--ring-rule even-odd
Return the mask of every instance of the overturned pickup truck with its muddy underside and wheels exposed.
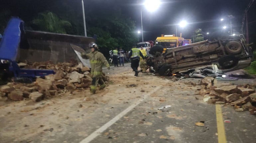
[[253, 60], [252, 51], [243, 35], [229, 36], [214, 42], [206, 40], [162, 52], [161, 45], [154, 46], [147, 59], [148, 66], [161, 76], [197, 67], [225, 73], [245, 68]]

